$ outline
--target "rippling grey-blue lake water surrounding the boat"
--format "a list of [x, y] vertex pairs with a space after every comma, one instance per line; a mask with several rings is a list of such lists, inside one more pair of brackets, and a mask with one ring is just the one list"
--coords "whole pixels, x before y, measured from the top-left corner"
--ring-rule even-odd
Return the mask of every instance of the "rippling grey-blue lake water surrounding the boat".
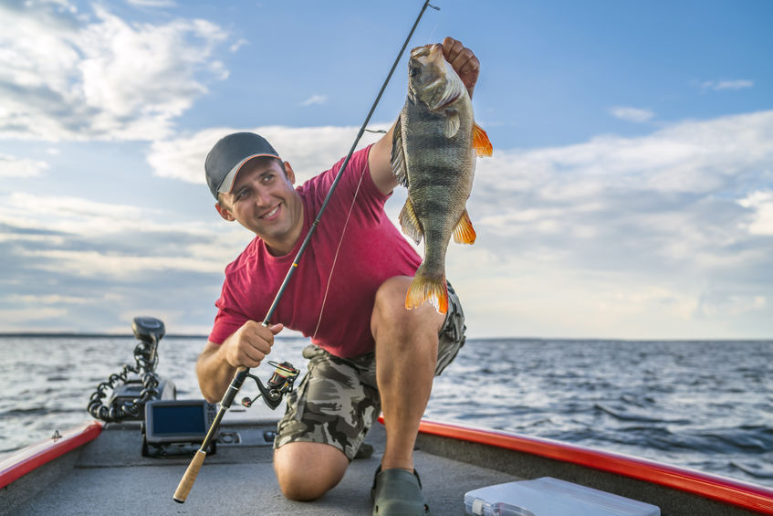
[[[279, 342], [272, 358], [305, 373], [307, 342]], [[158, 372], [178, 398], [201, 397], [193, 364], [203, 344], [159, 346]], [[89, 420], [89, 395], [133, 363], [134, 345], [0, 337], [0, 458]], [[470, 340], [435, 379], [426, 416], [773, 487], [772, 360], [773, 342]]]

